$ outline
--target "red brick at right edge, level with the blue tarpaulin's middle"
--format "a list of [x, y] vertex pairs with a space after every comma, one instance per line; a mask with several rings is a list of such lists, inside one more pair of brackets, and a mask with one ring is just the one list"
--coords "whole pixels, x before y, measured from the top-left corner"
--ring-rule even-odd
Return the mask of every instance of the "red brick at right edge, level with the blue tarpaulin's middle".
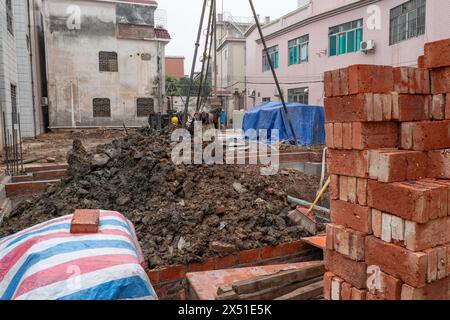
[[450, 148], [450, 121], [402, 123], [403, 149], [430, 151]]

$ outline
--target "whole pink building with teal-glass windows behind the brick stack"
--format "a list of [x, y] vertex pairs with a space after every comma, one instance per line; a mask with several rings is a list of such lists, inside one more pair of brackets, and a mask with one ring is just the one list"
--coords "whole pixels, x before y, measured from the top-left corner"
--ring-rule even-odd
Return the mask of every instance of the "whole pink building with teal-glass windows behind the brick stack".
[[[449, 12], [447, 0], [311, 0], [263, 33], [286, 100], [323, 105], [325, 71], [417, 66], [424, 43], [450, 37]], [[279, 101], [255, 28], [246, 47], [248, 105]]]

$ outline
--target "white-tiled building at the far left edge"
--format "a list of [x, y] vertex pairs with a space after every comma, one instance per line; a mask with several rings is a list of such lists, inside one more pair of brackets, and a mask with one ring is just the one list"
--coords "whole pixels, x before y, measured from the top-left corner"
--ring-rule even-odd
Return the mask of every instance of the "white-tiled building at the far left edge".
[[[44, 131], [39, 56], [41, 1], [0, 0], [0, 144], [20, 127], [22, 137]], [[45, 82], [45, 80], [44, 80]], [[4, 115], [4, 119], [3, 119]], [[3, 124], [6, 124], [5, 126]]]

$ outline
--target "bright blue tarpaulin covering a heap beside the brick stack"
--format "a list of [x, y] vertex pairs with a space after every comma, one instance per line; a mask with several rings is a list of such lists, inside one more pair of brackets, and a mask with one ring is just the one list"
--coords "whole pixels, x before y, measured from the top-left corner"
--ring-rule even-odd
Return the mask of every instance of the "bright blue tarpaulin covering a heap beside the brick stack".
[[[323, 107], [288, 103], [287, 108], [299, 144], [325, 144], [325, 114]], [[294, 142], [294, 136], [289, 128], [281, 102], [264, 102], [251, 111], [246, 112], [243, 129], [244, 132], [249, 129], [266, 129], [269, 131], [267, 139], [272, 143], [274, 139], [270, 135], [270, 130], [278, 129], [281, 141]]]

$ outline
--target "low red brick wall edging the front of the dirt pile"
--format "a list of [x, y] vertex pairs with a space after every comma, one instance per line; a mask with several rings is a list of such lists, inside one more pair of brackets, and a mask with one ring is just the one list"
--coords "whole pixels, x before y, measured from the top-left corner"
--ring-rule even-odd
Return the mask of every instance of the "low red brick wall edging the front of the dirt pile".
[[148, 276], [160, 299], [184, 300], [188, 289], [186, 280], [188, 272], [311, 261], [321, 259], [321, 257], [321, 250], [296, 241], [276, 247], [264, 247], [241, 251], [235, 255], [210, 258], [203, 263], [150, 270]]

